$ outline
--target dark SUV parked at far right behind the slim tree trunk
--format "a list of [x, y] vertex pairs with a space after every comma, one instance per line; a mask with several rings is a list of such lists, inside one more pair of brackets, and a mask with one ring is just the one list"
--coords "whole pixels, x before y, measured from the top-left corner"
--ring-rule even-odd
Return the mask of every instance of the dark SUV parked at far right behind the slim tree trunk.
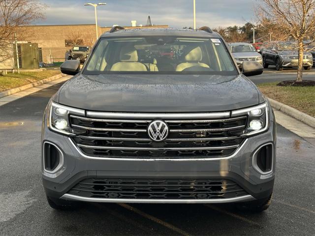
[[[295, 42], [269, 42], [261, 51], [263, 67], [276, 65], [276, 70], [298, 66], [298, 52]], [[303, 55], [304, 69], [310, 70], [313, 66], [313, 56], [309, 52]]]

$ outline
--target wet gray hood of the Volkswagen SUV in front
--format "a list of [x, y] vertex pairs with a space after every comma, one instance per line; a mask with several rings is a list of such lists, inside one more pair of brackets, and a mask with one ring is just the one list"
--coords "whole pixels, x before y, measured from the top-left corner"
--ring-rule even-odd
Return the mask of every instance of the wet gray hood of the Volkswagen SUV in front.
[[214, 112], [263, 98], [243, 75], [77, 75], [54, 97], [60, 104], [108, 112]]

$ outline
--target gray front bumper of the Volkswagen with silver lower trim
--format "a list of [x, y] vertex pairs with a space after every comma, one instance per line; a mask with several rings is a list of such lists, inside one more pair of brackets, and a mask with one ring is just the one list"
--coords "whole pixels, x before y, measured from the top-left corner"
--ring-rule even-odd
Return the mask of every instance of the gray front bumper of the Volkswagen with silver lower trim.
[[[124, 202], [124, 203], [228, 203], [252, 201], [268, 198], [274, 185], [275, 159], [273, 171], [262, 175], [252, 166], [253, 153], [266, 143], [276, 147], [275, 124], [270, 122], [268, 131], [249, 137], [239, 152], [227, 159], [194, 160], [102, 160], [83, 156], [70, 142], [69, 138], [52, 132], [46, 120], [42, 126], [42, 142], [55, 144], [63, 152], [63, 167], [54, 174], [42, 168], [43, 186], [47, 196], [65, 200], [87, 202]], [[43, 158], [41, 158], [43, 167]], [[237, 183], [248, 194], [225, 199], [116, 199], [86, 198], [69, 194], [69, 191], [86, 178], [181, 178], [181, 179], [228, 179]]]

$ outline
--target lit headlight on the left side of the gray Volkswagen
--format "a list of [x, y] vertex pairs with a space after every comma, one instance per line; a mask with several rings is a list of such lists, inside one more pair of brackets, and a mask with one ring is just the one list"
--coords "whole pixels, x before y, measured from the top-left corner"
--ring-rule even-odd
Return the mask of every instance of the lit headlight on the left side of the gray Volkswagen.
[[53, 131], [70, 136], [84, 134], [84, 130], [73, 129], [70, 126], [69, 114], [85, 116], [84, 110], [50, 102], [48, 107], [48, 127]]

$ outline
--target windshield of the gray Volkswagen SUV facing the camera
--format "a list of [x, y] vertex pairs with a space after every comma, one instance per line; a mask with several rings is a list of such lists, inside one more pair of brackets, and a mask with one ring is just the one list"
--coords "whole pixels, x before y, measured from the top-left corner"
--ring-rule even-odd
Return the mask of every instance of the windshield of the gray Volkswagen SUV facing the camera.
[[238, 74], [221, 39], [177, 36], [102, 38], [83, 73]]

